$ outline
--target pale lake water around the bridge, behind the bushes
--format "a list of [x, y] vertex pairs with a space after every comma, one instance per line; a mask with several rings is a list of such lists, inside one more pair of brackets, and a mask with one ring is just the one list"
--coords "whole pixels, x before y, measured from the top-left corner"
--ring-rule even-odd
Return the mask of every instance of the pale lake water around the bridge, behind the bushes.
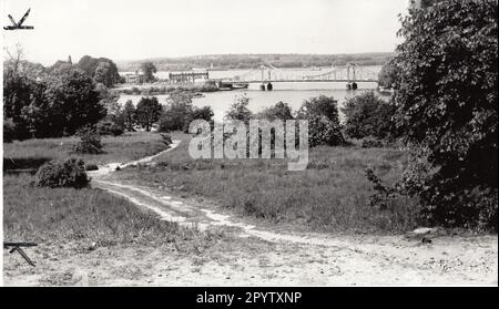
[[[286, 70], [289, 74], [318, 74], [324, 70], [303, 70], [303, 69], [294, 69]], [[329, 69], [330, 70], [330, 69]], [[375, 72], [379, 72], [380, 66], [369, 66], [369, 70]], [[213, 71], [210, 72], [210, 76], [213, 79], [221, 79], [227, 76], [234, 76], [238, 74], [244, 74], [248, 72], [248, 70], [228, 70], [228, 71]], [[326, 71], [324, 71], [326, 72]], [[167, 72], [159, 72], [156, 76], [163, 78], [167, 76]], [[346, 84], [342, 82], [277, 82], [273, 83], [273, 91], [261, 91], [259, 84], [252, 83], [247, 90], [233, 90], [233, 91], [218, 91], [204, 93], [204, 97], [195, 97], [193, 99], [193, 104], [195, 106], [211, 106], [215, 114], [216, 121], [222, 121], [225, 112], [228, 107], [234, 103], [234, 100], [241, 95], [247, 95], [249, 97], [249, 110], [254, 113], [259, 112], [262, 109], [273, 106], [277, 102], [283, 101], [288, 103], [293, 111], [297, 111], [299, 106], [303, 104], [304, 100], [309, 97], [318, 96], [318, 95], [328, 95], [335, 97], [338, 101], [338, 106], [345, 102], [346, 99], [349, 99], [354, 95], [357, 95], [365, 91], [375, 90], [377, 84], [374, 82], [359, 82], [358, 89], [356, 91], [346, 90]], [[139, 100], [143, 95], [121, 95], [119, 102], [124, 104], [128, 100], [132, 100], [134, 104], [139, 102]], [[167, 94], [155, 95], [160, 103], [165, 103], [167, 99]]]

